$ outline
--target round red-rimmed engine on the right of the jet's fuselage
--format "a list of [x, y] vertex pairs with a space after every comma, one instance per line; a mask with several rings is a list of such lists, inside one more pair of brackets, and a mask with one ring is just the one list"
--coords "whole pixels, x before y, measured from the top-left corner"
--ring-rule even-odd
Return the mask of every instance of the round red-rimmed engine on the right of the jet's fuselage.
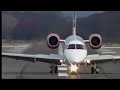
[[102, 46], [102, 37], [99, 34], [92, 34], [89, 37], [89, 44], [92, 49], [99, 49]]

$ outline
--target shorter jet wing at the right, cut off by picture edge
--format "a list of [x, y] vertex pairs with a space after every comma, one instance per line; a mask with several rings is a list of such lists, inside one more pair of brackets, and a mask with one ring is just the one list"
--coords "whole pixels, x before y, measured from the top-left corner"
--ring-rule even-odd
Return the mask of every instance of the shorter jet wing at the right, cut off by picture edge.
[[113, 55], [88, 55], [87, 60], [90, 62], [97, 63], [106, 63], [106, 62], [120, 62], [120, 56], [113, 56]]

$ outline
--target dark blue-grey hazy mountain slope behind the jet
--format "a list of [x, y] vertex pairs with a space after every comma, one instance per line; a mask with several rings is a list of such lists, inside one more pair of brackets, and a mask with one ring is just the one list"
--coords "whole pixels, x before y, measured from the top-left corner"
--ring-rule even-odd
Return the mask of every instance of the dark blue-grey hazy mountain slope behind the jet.
[[[10, 28], [5, 28], [8, 26]], [[77, 19], [77, 34], [85, 39], [90, 34], [99, 33], [104, 40], [120, 41], [119, 30], [120, 11], [107, 11]], [[51, 32], [60, 34], [62, 38], [71, 35], [72, 19], [64, 17], [59, 11], [2, 12], [4, 39], [46, 39]]]

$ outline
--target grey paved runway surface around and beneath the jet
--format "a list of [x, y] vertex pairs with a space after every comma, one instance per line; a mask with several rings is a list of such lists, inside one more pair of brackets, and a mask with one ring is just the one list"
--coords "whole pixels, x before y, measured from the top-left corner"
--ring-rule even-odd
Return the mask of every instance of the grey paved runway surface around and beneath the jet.
[[[3, 44], [4, 45], [4, 44]], [[12, 53], [27, 53], [27, 54], [50, 54], [58, 53], [57, 50], [51, 50], [47, 47], [46, 42], [33, 42], [32, 44], [25, 44], [26, 47], [2, 47], [2, 52]], [[120, 45], [104, 45], [104, 46], [118, 46]], [[103, 50], [91, 50], [88, 46], [88, 54], [100, 53]], [[120, 55], [120, 49], [112, 50], [114, 55]], [[15, 60], [10, 58], [2, 58], [2, 79], [120, 79], [120, 63], [113, 64], [112, 62], [99, 64], [100, 74], [91, 74], [90, 66], [80, 67], [80, 76], [60, 77], [58, 74], [49, 73], [49, 64], [41, 62], [28, 62], [22, 60]]]

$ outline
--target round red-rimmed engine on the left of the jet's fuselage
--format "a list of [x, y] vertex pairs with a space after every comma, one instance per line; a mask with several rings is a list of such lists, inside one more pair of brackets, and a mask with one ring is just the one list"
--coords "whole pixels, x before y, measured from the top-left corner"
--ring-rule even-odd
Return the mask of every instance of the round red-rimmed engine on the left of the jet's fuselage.
[[60, 36], [55, 33], [51, 33], [47, 36], [47, 45], [51, 49], [58, 48], [60, 43]]

